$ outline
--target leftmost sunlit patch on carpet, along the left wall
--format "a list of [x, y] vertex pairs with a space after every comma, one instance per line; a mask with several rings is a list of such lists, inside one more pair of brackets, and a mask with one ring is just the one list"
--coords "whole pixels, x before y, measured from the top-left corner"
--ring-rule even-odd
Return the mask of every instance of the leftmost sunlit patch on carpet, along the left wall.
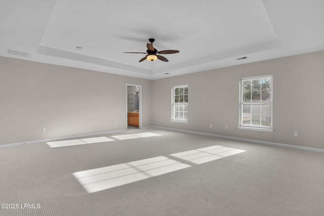
[[54, 141], [54, 142], [47, 142], [46, 144], [49, 145], [49, 147], [51, 148], [55, 148], [55, 147], [63, 147], [63, 146], [84, 145], [90, 143], [102, 143], [102, 142], [109, 142], [109, 141], [114, 141], [114, 140], [107, 137], [95, 137], [95, 138], [85, 138], [85, 139], [76, 139], [76, 140]]

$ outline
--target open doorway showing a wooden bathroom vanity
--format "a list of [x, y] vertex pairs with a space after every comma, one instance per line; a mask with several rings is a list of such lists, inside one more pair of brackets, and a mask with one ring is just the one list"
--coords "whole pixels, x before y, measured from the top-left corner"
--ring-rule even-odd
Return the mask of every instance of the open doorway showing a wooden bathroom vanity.
[[142, 127], [142, 85], [126, 84], [126, 130]]

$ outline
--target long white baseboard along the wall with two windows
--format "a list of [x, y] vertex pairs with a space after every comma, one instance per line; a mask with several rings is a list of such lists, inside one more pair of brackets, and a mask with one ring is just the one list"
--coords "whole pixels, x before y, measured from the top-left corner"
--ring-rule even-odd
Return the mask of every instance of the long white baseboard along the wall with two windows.
[[272, 142], [266, 142], [266, 141], [260, 141], [260, 140], [250, 140], [250, 139], [243, 139], [243, 138], [237, 138], [237, 137], [228, 137], [228, 136], [222, 136], [222, 135], [216, 135], [216, 134], [207, 134], [207, 133], [201, 133], [201, 132], [186, 131], [183, 129], [174, 129], [174, 128], [169, 128], [169, 127], [160, 127], [160, 126], [151, 126], [151, 127], [167, 129], [169, 131], [177, 131], [177, 132], [184, 132], [184, 133], [189, 133], [189, 134], [198, 134], [198, 135], [218, 137], [218, 138], [224, 138], [224, 139], [230, 139], [230, 140], [238, 140], [238, 141], [257, 143], [257, 144], [263, 144], [263, 145], [280, 146], [280, 147], [285, 147], [285, 148], [300, 149], [300, 150], [324, 153], [324, 149], [311, 148], [311, 147], [306, 147], [306, 146], [294, 146], [294, 145], [288, 145], [288, 144], [282, 144], [282, 143], [272, 143]]

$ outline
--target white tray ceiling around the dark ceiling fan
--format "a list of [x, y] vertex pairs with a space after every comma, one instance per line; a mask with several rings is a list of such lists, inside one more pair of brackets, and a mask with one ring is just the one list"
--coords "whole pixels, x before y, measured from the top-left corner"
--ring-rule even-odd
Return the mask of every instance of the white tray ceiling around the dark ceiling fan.
[[[0, 0], [0, 56], [159, 79], [324, 50], [323, 11], [323, 0]], [[145, 54], [124, 53], [145, 53], [148, 38], [180, 51], [153, 75]]]

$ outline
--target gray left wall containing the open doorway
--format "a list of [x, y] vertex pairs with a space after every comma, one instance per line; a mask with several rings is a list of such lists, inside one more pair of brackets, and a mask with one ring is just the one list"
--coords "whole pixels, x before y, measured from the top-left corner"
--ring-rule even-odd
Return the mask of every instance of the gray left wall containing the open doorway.
[[127, 83], [152, 125], [152, 80], [0, 57], [0, 145], [126, 129]]

